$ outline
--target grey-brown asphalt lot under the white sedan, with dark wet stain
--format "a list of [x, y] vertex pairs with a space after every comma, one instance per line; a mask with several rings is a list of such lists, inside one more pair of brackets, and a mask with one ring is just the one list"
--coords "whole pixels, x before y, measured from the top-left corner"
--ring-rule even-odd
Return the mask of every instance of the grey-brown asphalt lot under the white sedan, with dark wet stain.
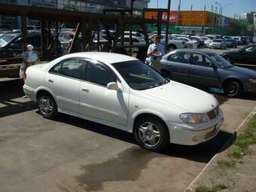
[[255, 94], [216, 95], [225, 120], [215, 139], [154, 153], [112, 127], [66, 114], [44, 119], [21, 88], [1, 93], [0, 186], [19, 192], [182, 191], [256, 105]]

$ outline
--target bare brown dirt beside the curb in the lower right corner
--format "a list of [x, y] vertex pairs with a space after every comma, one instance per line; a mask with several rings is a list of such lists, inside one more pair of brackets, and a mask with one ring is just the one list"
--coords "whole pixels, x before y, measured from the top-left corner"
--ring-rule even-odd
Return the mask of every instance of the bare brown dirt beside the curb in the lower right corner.
[[[242, 126], [239, 133], [246, 128]], [[255, 134], [255, 133], [254, 133]], [[195, 191], [199, 186], [214, 187], [218, 184], [224, 184], [227, 189], [218, 190], [221, 192], [255, 192], [256, 191], [256, 145], [249, 146], [251, 154], [243, 156], [236, 166], [231, 168], [221, 168], [218, 166], [218, 160], [227, 160], [227, 154], [230, 148], [218, 154], [212, 160], [205, 171], [197, 178], [192, 186], [185, 191]], [[208, 190], [207, 190], [208, 191]]]

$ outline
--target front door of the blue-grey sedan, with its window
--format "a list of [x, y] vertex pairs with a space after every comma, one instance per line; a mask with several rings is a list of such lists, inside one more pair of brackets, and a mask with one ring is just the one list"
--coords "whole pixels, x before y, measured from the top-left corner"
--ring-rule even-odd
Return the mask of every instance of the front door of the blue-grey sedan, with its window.
[[209, 57], [201, 53], [193, 53], [190, 64], [190, 83], [192, 85], [219, 87], [218, 69]]

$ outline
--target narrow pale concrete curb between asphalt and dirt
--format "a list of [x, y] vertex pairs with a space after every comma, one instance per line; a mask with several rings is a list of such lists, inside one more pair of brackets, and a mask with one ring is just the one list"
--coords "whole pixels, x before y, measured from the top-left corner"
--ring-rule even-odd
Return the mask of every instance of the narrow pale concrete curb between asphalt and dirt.
[[[225, 146], [230, 145], [230, 142], [233, 140], [233, 138], [236, 136], [236, 133], [238, 133], [239, 129], [245, 125], [245, 123], [247, 122], [248, 118], [253, 116], [254, 114], [256, 114], [256, 107], [254, 107], [251, 112], [247, 115], [247, 117], [245, 117], [244, 120], [242, 120], [242, 123], [239, 124], [239, 126], [236, 128], [235, 132], [233, 133], [232, 136], [230, 136], [230, 139], [227, 140], [227, 142], [224, 143], [224, 145], [222, 145], [222, 147], [220, 148], [219, 151], [221, 151]], [[183, 192], [192, 192], [192, 186], [193, 184], [197, 181], [198, 178], [200, 178], [200, 175], [203, 174], [203, 172], [206, 170], [206, 168], [209, 167], [209, 165], [212, 163], [213, 160], [215, 160], [215, 158], [218, 156], [219, 151], [217, 154], [215, 154], [212, 159], [206, 164], [206, 166], [201, 170], [201, 172], [197, 175], [196, 178], [194, 178], [194, 180], [192, 182], [190, 182], [190, 184], [187, 185], [187, 187], [185, 188], [185, 190], [183, 190]]]

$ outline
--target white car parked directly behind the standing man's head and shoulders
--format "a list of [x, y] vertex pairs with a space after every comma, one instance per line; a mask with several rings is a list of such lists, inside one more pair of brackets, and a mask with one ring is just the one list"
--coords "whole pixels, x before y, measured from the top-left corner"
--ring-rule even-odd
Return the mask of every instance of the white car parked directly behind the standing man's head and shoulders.
[[[155, 35], [151, 35], [149, 37], [150, 39], [150, 43], [154, 43], [154, 36]], [[161, 44], [163, 44], [163, 46], [166, 45], [166, 35], [161, 34], [160, 35], [161, 38]], [[177, 40], [177, 39], [173, 39], [171, 36], [168, 37], [168, 44], [166, 47], [166, 52], [170, 52], [172, 50], [175, 49], [181, 49], [181, 48], [185, 48], [185, 41], [181, 41], [181, 40]]]

